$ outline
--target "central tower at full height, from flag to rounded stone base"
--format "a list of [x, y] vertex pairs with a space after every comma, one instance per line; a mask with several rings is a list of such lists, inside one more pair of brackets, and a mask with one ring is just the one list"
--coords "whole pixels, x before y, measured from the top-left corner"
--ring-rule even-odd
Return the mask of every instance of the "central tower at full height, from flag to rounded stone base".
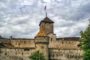
[[[45, 7], [46, 11], [46, 7]], [[46, 17], [40, 22], [40, 30], [35, 37], [35, 46], [36, 50], [39, 50], [41, 53], [44, 54], [45, 59], [49, 60], [49, 51], [48, 51], [48, 44], [49, 44], [49, 36], [48, 34], [54, 33], [53, 32], [53, 21]]]

